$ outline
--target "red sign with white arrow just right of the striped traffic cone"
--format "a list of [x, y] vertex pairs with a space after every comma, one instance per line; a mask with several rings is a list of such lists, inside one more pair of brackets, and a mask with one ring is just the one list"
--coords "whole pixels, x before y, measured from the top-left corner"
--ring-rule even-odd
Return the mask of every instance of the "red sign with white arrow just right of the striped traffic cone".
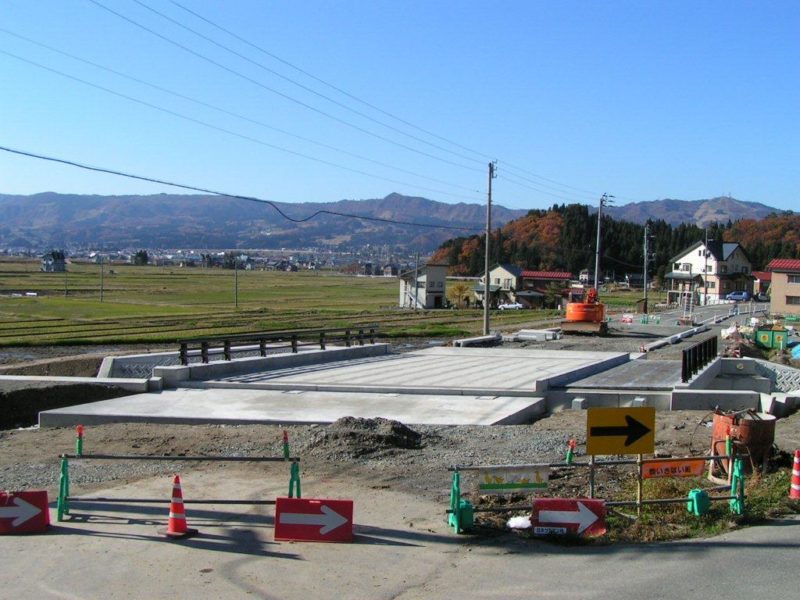
[[305, 542], [353, 541], [353, 501], [278, 498], [275, 539]]

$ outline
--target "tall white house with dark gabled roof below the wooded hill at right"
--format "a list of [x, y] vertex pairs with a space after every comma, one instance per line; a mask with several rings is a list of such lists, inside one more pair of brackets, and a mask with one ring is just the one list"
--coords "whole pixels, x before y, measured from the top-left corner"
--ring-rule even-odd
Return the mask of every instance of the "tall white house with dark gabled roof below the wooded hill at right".
[[693, 303], [712, 304], [735, 291], [752, 293], [752, 264], [738, 242], [697, 242], [670, 259], [664, 279], [670, 304], [691, 296]]

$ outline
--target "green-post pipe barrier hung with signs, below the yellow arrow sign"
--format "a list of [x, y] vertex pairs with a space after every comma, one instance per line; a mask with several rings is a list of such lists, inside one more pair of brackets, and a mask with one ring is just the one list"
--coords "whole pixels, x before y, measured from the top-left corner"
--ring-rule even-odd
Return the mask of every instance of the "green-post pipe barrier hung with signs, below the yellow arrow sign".
[[[644, 498], [644, 480], [667, 477], [701, 477], [707, 462], [725, 461], [732, 470], [730, 485], [717, 486], [711, 491], [729, 490], [727, 495], [710, 495], [708, 490], [693, 489], [686, 498]], [[595, 471], [597, 467], [618, 467], [623, 465], [636, 465], [637, 490], [635, 500], [605, 501], [607, 507], [633, 506], [636, 513], [641, 516], [642, 507], [646, 505], [686, 504], [687, 510], [695, 516], [705, 514], [711, 502], [728, 500], [730, 510], [734, 514], [744, 513], [745, 479], [744, 463], [741, 458], [730, 454], [718, 456], [692, 456], [685, 458], [648, 458], [641, 455], [636, 459], [624, 460], [595, 460], [590, 457], [588, 462], [559, 462], [526, 465], [479, 465], [479, 466], [453, 466], [448, 469], [452, 472], [450, 488], [450, 507], [447, 509], [448, 523], [456, 533], [470, 529], [474, 524], [474, 514], [479, 512], [519, 512], [530, 511], [531, 504], [508, 506], [473, 506], [466, 498], [462, 497], [461, 474], [465, 471], [478, 473], [477, 491], [480, 494], [535, 494], [546, 490], [549, 482], [549, 473], [552, 469], [588, 469], [589, 470], [589, 498], [595, 497]]]

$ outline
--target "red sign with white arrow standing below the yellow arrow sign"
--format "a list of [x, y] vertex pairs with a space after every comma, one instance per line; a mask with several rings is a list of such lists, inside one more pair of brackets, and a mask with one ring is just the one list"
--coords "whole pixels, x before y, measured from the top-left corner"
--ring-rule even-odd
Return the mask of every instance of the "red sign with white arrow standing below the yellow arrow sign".
[[531, 525], [534, 535], [603, 535], [606, 504], [603, 500], [588, 498], [537, 498], [533, 501]]

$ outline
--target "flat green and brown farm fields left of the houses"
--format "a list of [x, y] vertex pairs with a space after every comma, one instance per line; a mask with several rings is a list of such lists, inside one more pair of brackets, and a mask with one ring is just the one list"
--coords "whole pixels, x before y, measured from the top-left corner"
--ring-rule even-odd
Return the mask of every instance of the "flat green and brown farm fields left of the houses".
[[[238, 280], [238, 306], [236, 305]], [[385, 337], [474, 335], [480, 310], [397, 307], [396, 278], [38, 261], [0, 262], [0, 347], [173, 343], [186, 337], [378, 325]], [[35, 294], [35, 295], [33, 295]], [[492, 326], [552, 320], [554, 311], [493, 311]]]

